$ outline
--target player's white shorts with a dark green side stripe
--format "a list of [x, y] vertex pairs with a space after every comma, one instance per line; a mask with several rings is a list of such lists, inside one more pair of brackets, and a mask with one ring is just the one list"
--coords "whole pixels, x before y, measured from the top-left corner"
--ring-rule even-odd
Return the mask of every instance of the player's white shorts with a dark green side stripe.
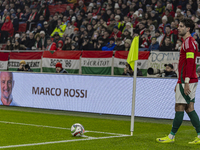
[[195, 102], [195, 93], [197, 89], [198, 83], [189, 83], [191, 93], [189, 95], [185, 95], [184, 86], [185, 84], [178, 83], [176, 85], [176, 103], [181, 104], [189, 104], [190, 102]]

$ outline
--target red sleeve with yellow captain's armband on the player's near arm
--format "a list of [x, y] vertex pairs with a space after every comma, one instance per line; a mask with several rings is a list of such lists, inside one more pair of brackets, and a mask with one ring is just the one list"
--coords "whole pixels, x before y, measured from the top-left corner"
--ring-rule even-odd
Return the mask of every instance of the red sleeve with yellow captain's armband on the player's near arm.
[[191, 38], [186, 39], [185, 44], [185, 52], [186, 52], [186, 78], [191, 78], [193, 73], [193, 67], [195, 65], [195, 52], [197, 49], [196, 43]]

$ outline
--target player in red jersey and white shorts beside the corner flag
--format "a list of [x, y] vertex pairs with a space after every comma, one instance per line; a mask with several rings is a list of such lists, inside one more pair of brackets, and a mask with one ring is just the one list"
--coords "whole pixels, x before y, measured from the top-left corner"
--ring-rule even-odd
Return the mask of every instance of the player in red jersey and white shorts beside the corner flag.
[[178, 65], [179, 78], [175, 87], [176, 113], [170, 134], [166, 137], [156, 139], [160, 143], [173, 143], [175, 141], [175, 134], [181, 126], [184, 111], [186, 111], [197, 132], [195, 140], [188, 144], [200, 144], [200, 122], [194, 110], [195, 92], [198, 83], [195, 64], [198, 47], [194, 38], [191, 36], [194, 27], [194, 22], [191, 19], [185, 18], [179, 23], [178, 32], [184, 39], [184, 42], [180, 50]]

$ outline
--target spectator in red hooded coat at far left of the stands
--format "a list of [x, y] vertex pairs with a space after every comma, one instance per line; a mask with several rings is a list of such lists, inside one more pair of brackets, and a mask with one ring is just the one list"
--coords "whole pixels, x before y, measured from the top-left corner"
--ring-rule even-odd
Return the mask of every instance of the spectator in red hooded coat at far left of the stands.
[[5, 23], [1, 27], [1, 43], [5, 43], [8, 40], [8, 36], [13, 35], [13, 32], [13, 24], [10, 20], [10, 17], [7, 16]]

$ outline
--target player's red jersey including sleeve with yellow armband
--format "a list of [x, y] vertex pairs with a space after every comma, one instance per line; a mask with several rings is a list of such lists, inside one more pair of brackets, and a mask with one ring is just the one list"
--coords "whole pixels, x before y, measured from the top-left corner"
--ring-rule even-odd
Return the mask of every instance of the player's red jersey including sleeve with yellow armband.
[[195, 62], [197, 53], [198, 47], [195, 39], [192, 36], [187, 37], [180, 50], [178, 83], [184, 83], [186, 77], [190, 78], [189, 83], [198, 82]]

